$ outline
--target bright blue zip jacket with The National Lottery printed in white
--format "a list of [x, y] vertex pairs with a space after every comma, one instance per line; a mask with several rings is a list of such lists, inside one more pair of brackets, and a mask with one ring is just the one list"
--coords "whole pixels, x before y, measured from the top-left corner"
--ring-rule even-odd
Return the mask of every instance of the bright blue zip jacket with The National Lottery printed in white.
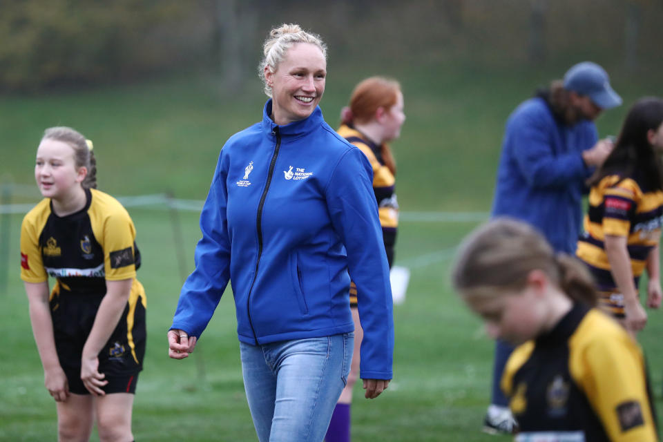
[[271, 100], [221, 150], [171, 328], [200, 337], [230, 280], [244, 343], [352, 332], [349, 272], [362, 294], [360, 376], [390, 379], [392, 295], [371, 166], [319, 107], [285, 126], [270, 114]]

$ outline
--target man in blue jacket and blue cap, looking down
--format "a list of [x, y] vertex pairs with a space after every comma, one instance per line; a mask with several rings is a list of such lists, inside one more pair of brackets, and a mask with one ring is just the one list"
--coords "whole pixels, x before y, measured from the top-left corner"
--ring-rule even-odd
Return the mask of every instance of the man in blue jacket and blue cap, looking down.
[[[598, 140], [594, 120], [622, 104], [606, 71], [584, 61], [563, 80], [538, 90], [506, 122], [492, 216], [510, 216], [544, 233], [556, 251], [573, 254], [582, 225], [585, 180], [612, 150]], [[499, 390], [512, 347], [496, 342], [492, 401], [484, 420], [490, 433], [512, 432], [515, 422]]]

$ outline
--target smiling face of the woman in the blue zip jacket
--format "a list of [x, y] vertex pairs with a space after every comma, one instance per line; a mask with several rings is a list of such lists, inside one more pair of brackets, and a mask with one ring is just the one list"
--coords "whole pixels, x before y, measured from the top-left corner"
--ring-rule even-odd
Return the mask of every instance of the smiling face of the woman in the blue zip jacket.
[[309, 117], [323, 97], [326, 76], [327, 61], [322, 50], [309, 43], [291, 46], [276, 71], [265, 66], [274, 122], [285, 125]]

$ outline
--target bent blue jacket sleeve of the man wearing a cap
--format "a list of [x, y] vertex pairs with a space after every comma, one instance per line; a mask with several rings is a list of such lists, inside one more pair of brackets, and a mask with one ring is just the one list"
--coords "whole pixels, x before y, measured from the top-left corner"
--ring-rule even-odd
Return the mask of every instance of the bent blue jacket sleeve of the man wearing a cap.
[[568, 146], [569, 152], [555, 153], [552, 129], [550, 121], [535, 113], [519, 115], [510, 122], [507, 136], [518, 169], [533, 188], [567, 188], [569, 182], [582, 184], [591, 173], [582, 160], [582, 151], [596, 141], [588, 137], [587, 146]]

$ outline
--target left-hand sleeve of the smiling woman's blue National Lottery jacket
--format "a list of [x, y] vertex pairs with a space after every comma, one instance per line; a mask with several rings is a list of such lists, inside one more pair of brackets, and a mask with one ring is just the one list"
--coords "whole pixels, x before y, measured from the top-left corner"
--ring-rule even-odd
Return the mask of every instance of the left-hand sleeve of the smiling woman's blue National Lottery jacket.
[[230, 280], [230, 238], [226, 218], [228, 192], [223, 157], [222, 150], [200, 213], [202, 238], [195, 247], [195, 270], [182, 286], [171, 325], [171, 329], [182, 329], [198, 338]]

